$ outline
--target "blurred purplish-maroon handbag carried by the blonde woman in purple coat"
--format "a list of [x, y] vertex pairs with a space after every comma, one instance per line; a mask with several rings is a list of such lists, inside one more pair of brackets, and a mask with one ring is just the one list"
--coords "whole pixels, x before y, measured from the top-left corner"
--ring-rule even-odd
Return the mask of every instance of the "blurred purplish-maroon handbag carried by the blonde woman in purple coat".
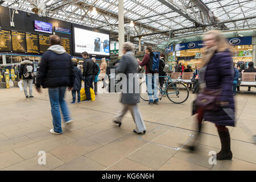
[[220, 110], [220, 106], [216, 104], [220, 97], [220, 89], [204, 88], [203, 91], [197, 95], [195, 104], [199, 107], [204, 107], [205, 110]]

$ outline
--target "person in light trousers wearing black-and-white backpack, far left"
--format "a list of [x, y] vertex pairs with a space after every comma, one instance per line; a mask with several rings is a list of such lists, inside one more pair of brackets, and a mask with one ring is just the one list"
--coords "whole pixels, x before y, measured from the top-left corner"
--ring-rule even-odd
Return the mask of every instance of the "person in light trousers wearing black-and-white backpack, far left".
[[[25, 57], [25, 60], [20, 63], [19, 78], [20, 80], [22, 79], [26, 98], [33, 98], [32, 84], [34, 80], [34, 64], [30, 61], [29, 57]], [[30, 96], [27, 94], [27, 86], [30, 90]]]

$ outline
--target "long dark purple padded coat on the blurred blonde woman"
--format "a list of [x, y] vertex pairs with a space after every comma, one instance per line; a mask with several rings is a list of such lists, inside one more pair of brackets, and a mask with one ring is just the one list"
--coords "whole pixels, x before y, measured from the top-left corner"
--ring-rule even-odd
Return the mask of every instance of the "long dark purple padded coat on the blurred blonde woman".
[[[204, 73], [204, 78], [207, 88], [221, 89], [218, 101], [229, 102], [228, 107], [235, 111], [232, 93], [233, 74], [232, 53], [227, 50], [224, 52], [214, 53], [207, 64], [207, 70]], [[205, 121], [225, 126], [234, 126], [235, 122], [223, 109], [218, 111], [205, 111], [204, 119]]]

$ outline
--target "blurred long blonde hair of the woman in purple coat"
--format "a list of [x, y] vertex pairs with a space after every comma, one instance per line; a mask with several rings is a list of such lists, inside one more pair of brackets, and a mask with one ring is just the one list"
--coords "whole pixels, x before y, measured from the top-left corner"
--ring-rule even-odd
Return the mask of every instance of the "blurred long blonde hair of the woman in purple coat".
[[228, 41], [224, 36], [221, 34], [220, 31], [218, 30], [210, 30], [204, 34], [204, 37], [207, 35], [213, 35], [214, 39], [217, 42], [216, 46], [213, 46], [211, 48], [203, 48], [203, 55], [202, 55], [202, 60], [201, 63], [199, 64], [200, 68], [203, 68], [204, 65], [206, 65], [209, 60], [212, 58], [214, 53], [217, 52], [224, 52], [228, 49], [230, 52], [230, 55], [234, 52], [233, 48], [229, 45]]

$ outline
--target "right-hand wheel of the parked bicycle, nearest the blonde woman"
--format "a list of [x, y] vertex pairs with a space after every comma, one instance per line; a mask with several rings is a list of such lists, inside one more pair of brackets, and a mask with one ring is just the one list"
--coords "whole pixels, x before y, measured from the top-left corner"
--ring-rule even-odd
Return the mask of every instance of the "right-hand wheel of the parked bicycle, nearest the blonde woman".
[[181, 104], [188, 99], [189, 90], [183, 82], [172, 82], [166, 89], [167, 97], [175, 104]]

